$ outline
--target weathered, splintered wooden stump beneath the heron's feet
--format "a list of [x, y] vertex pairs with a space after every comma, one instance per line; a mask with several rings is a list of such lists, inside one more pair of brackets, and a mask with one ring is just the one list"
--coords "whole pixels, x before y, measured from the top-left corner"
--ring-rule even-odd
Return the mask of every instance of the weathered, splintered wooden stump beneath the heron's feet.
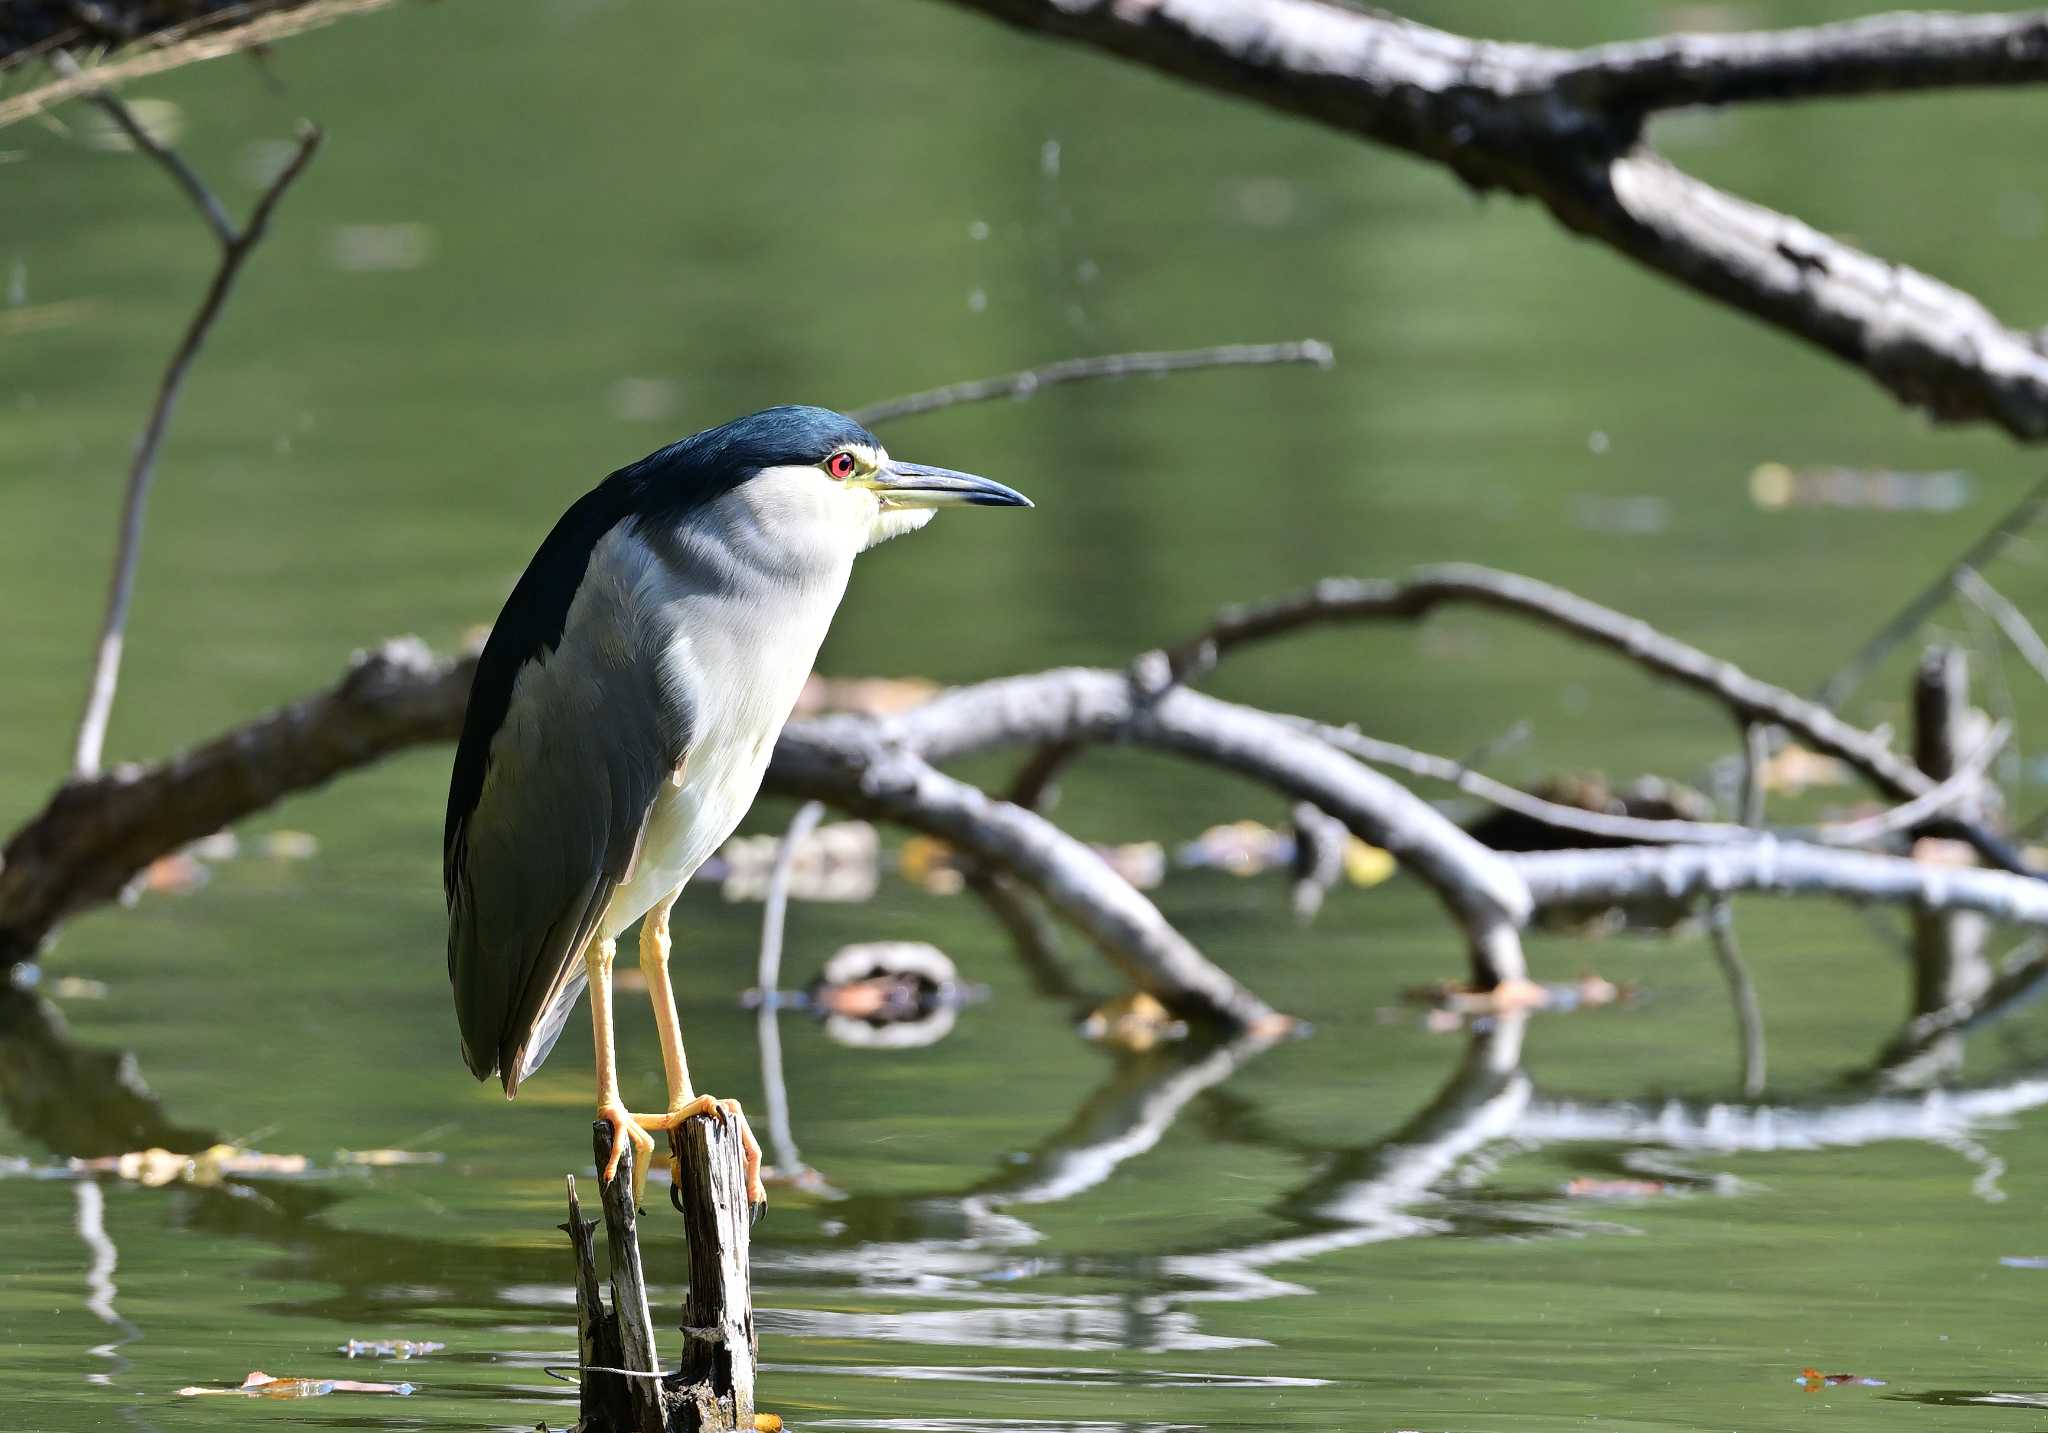
[[[598, 1284], [592, 1230], [569, 1177], [569, 1234], [575, 1259], [575, 1347], [582, 1365], [584, 1433], [739, 1433], [754, 1417], [754, 1282], [748, 1267], [752, 1210], [737, 1132], [698, 1116], [674, 1136], [682, 1155], [676, 1208], [688, 1234], [688, 1290], [682, 1304], [682, 1370], [664, 1374], [633, 1208], [633, 1150], [618, 1175], [598, 1183], [610, 1253], [610, 1308]], [[610, 1159], [612, 1128], [598, 1120], [598, 1167]], [[766, 1421], [764, 1421], [766, 1423]]]

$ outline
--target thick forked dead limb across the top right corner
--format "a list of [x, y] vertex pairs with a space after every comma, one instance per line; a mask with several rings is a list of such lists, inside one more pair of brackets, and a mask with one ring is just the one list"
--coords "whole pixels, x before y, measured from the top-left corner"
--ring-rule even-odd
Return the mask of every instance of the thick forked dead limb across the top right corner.
[[1679, 104], [2048, 78], [2048, 14], [1894, 14], [1565, 51], [1327, 0], [952, 0], [1534, 199], [1573, 233], [1823, 348], [1942, 422], [2048, 436], [2048, 354], [1968, 293], [1655, 154]]

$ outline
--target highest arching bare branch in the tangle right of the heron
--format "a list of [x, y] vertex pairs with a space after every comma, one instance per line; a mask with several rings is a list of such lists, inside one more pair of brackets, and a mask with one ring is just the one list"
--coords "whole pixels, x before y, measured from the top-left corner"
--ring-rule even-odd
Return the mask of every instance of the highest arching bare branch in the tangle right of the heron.
[[1358, 620], [1413, 622], [1440, 606], [1470, 604], [1513, 612], [1579, 641], [1604, 647], [1667, 682], [1720, 702], [1741, 723], [1784, 727], [1806, 745], [1837, 755], [1890, 796], [1923, 796], [1933, 780], [1872, 731], [1851, 727], [1827, 708], [1759, 682], [1731, 661], [1665, 637], [1640, 618], [1552, 588], [1534, 577], [1462, 563], [1419, 567], [1401, 581], [1327, 577], [1305, 592], [1270, 602], [1225, 608], [1214, 622], [1174, 647], [1169, 661], [1190, 678], [1233, 647], [1303, 626]]

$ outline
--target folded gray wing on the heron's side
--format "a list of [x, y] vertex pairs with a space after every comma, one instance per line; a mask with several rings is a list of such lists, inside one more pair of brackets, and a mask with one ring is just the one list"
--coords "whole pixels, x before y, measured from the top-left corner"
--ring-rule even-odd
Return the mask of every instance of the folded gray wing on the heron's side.
[[[465, 747], [481, 751], [467, 751], [475, 805], [451, 811], [444, 848], [449, 979], [463, 1058], [477, 1079], [496, 1071], [506, 1095], [561, 1036], [584, 989], [584, 948], [688, 745], [688, 712], [645, 649], [649, 614], [631, 571], [643, 555], [627, 528], [598, 542], [555, 649], [535, 647], [510, 671], [502, 657], [502, 719], [487, 733], [465, 723]], [[518, 639], [508, 604], [494, 643], [500, 631]], [[471, 706], [489, 659], [485, 647]]]

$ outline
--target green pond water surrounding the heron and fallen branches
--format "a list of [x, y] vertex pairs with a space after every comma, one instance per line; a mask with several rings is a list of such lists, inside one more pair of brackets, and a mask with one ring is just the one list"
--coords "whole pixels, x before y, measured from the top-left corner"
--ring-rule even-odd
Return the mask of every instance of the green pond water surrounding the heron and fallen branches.
[[[1661, 18], [1415, 12], [1573, 43]], [[680, 432], [1073, 352], [1317, 336], [1339, 366], [897, 426], [899, 454], [987, 471], [1038, 510], [948, 516], [864, 559], [825, 669], [1120, 661], [1221, 600], [1470, 559], [1808, 688], [2036, 475], [2003, 440], [1929, 430], [1526, 207], [940, 4], [408, 4], [135, 94], [178, 106], [184, 151], [236, 205], [297, 115], [330, 141], [178, 414], [115, 757], [213, 733], [391, 633], [459, 641], [571, 495]], [[10, 813], [68, 751], [119, 475], [209, 266], [162, 174], [70, 119], [0, 133], [10, 305], [66, 305], [0, 338]], [[2042, 319], [2048, 125], [2030, 94], [1679, 117], [1659, 137]], [[1954, 469], [1966, 502], [1763, 510], [1759, 463]], [[2038, 547], [1995, 577], [2048, 614]], [[2034, 678], [1968, 614], [1939, 626], [1982, 653], [1978, 690], [2030, 751]], [[1853, 716], [1903, 719], [1905, 663]], [[1528, 721], [1495, 762], [1516, 780], [1692, 776], [1733, 743], [1716, 712], [1477, 614], [1303, 639], [1212, 688], [1450, 753]], [[66, 929], [43, 974], [76, 1048], [131, 1052], [170, 1120], [303, 1153], [313, 1173], [82, 1179], [63, 1126], [0, 1128], [10, 1427], [573, 1421], [543, 1365], [573, 1359], [553, 1224], [561, 1175], [584, 1167], [588, 1036], [571, 1028], [516, 1105], [463, 1075], [440, 956], [446, 762], [403, 755], [244, 831], [250, 848], [309, 831], [315, 860], [248, 856]], [[2044, 798], [2030, 770], [2005, 768], [2021, 813]], [[1167, 843], [1239, 817], [1284, 807], [1116, 753], [1090, 757], [1061, 807], [1090, 837]], [[2048, 1255], [2048, 1028], [1974, 1036], [1974, 1093], [1874, 1099], [1853, 1077], [1907, 991], [1888, 923], [1741, 903], [1769, 1091], [1763, 1112], [1716, 1116], [1739, 1103], [1735, 1034], [1696, 931], [1538, 938], [1542, 976], [1597, 970], [1638, 999], [1430, 1034], [1399, 995], [1460, 956], [1407, 882], [1339, 891], [1311, 929], [1272, 876], [1176, 874], [1157, 899], [1313, 1038], [1114, 1058], [965, 897], [885, 878], [872, 903], [795, 909], [793, 981], [846, 942], [911, 938], [989, 999], [893, 1054], [782, 1022], [797, 1142], [842, 1198], [778, 1189], [758, 1230], [764, 1406], [940, 1433], [2040, 1425], [2048, 1271], [2001, 1257]], [[756, 1026], [733, 999], [756, 919], [711, 888], [678, 917], [698, 1083], [760, 1110]], [[1079, 940], [1065, 956], [1085, 995], [1116, 991]], [[627, 1095], [659, 1099], [651, 1026], [625, 1009]], [[27, 1062], [14, 1042], [8, 1069]], [[444, 1159], [334, 1157], [385, 1146]], [[1565, 1193], [1573, 1179], [1661, 1191], [1593, 1202]], [[676, 1239], [655, 1220], [657, 1282]], [[676, 1290], [655, 1294], [672, 1310]], [[350, 1363], [348, 1339], [446, 1349]], [[1884, 1384], [1802, 1392], [1804, 1365]], [[418, 1392], [176, 1396], [250, 1370]]]

